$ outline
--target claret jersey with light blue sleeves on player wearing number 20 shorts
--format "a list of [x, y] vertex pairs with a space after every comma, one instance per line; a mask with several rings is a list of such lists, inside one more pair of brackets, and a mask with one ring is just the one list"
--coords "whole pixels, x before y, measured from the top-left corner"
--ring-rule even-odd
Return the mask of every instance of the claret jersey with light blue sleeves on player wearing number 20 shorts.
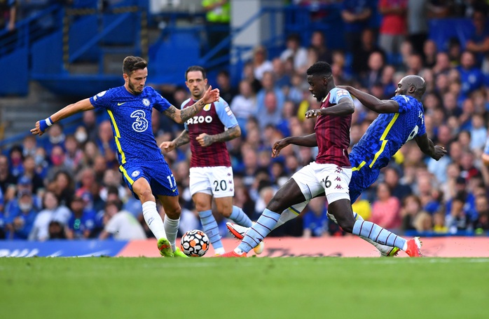
[[[190, 107], [195, 102], [192, 99], [188, 99], [181, 104], [181, 109]], [[223, 133], [227, 128], [234, 128], [236, 125], [236, 117], [222, 97], [217, 102], [206, 104], [198, 114], [189, 118], [185, 122], [185, 129], [190, 137], [191, 167], [230, 167], [231, 161], [226, 142], [216, 142], [208, 147], [202, 147], [195, 139], [202, 133], [216, 135]]]

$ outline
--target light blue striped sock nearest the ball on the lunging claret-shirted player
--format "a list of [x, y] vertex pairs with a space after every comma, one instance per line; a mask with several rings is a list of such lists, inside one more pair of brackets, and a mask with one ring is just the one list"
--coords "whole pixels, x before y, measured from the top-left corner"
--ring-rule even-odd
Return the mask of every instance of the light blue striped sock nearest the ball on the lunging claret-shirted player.
[[245, 238], [243, 238], [240, 245], [237, 246], [237, 250], [249, 252], [256, 247], [256, 245], [258, 245], [261, 240], [272, 231], [279, 218], [280, 214], [265, 209], [263, 214], [261, 214], [260, 218], [256, 221], [256, 224], [247, 231]]

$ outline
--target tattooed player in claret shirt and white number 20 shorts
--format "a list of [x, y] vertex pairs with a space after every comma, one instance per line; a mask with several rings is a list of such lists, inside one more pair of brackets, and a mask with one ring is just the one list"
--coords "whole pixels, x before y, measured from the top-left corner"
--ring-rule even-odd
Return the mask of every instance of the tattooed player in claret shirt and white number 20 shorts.
[[[181, 104], [181, 109], [191, 107], [200, 100], [207, 88], [206, 72], [203, 67], [192, 66], [185, 72], [185, 83], [191, 98]], [[219, 227], [212, 215], [212, 198], [217, 212], [240, 226], [252, 226], [252, 221], [243, 210], [233, 205], [233, 168], [226, 141], [240, 137], [241, 129], [228, 102], [218, 101], [205, 107], [185, 122], [185, 130], [171, 142], [163, 142], [160, 148], [172, 151], [190, 143], [191, 168], [190, 192], [198, 210], [202, 228], [209, 237], [214, 253], [223, 254], [224, 247]], [[263, 251], [263, 244], [255, 252]]]

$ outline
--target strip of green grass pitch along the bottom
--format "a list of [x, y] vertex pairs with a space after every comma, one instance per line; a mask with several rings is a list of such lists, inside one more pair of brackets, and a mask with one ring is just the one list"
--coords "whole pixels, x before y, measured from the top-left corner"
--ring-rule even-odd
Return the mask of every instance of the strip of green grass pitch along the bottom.
[[2, 318], [488, 318], [489, 259], [1, 258]]

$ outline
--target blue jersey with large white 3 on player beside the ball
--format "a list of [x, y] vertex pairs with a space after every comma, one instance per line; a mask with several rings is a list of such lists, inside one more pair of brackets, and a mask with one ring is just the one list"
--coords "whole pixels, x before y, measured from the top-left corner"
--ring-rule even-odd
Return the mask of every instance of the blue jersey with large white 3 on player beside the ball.
[[171, 106], [160, 93], [146, 86], [141, 94], [133, 95], [119, 86], [90, 97], [90, 103], [109, 113], [120, 165], [163, 158], [151, 128], [153, 107], [162, 112]]

